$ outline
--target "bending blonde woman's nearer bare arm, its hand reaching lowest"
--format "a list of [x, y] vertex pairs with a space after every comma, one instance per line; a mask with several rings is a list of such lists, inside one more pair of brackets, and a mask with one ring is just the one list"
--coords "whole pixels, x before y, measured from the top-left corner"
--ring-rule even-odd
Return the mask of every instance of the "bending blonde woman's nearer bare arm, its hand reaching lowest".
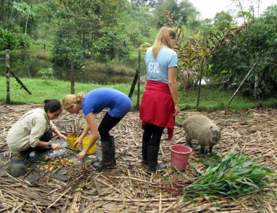
[[[86, 127], [86, 125], [87, 125], [87, 127]], [[84, 148], [84, 150], [82, 150], [82, 152], [77, 155], [77, 157], [79, 157], [79, 159], [82, 159], [84, 157], [84, 155], [86, 155], [86, 153], [89, 151], [89, 149], [92, 146], [94, 146], [94, 144], [96, 143], [97, 138], [99, 136], [99, 132], [98, 132], [96, 120], [94, 118], [94, 114], [89, 113], [89, 115], [86, 115], [85, 129], [89, 129], [91, 131], [91, 141], [89, 141], [89, 144], [86, 146], [86, 148]], [[85, 129], [84, 129], [84, 131], [85, 131]], [[84, 132], [83, 132], [83, 134], [84, 134]]]

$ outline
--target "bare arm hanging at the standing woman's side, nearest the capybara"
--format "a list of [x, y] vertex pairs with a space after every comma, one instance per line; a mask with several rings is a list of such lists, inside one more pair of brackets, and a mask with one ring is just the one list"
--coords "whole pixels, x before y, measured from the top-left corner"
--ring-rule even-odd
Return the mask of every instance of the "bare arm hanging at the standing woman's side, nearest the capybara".
[[178, 101], [177, 81], [176, 81], [176, 72], [177, 72], [176, 67], [170, 67], [168, 69], [168, 85], [169, 85], [170, 93], [172, 94], [172, 98], [174, 101], [174, 109], [175, 109], [175, 112], [173, 115], [178, 115], [178, 113], [180, 112], [179, 101]]

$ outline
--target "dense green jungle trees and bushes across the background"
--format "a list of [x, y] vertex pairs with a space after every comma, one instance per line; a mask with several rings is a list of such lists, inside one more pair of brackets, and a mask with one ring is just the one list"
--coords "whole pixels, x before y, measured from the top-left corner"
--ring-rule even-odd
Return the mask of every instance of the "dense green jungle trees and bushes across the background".
[[[167, 25], [179, 32], [182, 91], [200, 77], [217, 89], [237, 89], [254, 65], [240, 92], [253, 100], [276, 96], [277, 6], [255, 16], [260, 1], [245, 8], [244, 0], [232, 0], [236, 15], [221, 11], [201, 19], [192, 2], [1, 0], [0, 51], [34, 51], [37, 57], [68, 67], [72, 56], [76, 67], [117, 63], [137, 57], [136, 51], [153, 44], [157, 30]], [[44, 74], [51, 75], [51, 69]]]

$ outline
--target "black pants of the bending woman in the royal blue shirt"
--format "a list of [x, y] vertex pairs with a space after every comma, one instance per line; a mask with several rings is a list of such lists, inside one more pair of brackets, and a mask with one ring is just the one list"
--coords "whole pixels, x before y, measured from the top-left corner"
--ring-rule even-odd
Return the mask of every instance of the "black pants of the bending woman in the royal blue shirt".
[[123, 117], [124, 116], [112, 117], [108, 114], [108, 112], [105, 113], [105, 116], [103, 117], [103, 120], [98, 127], [101, 141], [110, 141], [110, 129], [112, 129], [112, 127], [115, 127], [115, 125], [118, 124], [118, 122], [120, 122]]

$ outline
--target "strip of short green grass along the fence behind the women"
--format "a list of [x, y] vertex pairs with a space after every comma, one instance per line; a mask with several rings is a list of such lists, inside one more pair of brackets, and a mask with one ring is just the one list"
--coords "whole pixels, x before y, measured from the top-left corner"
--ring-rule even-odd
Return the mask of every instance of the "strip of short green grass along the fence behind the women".
[[[63, 96], [70, 93], [70, 82], [64, 82], [55, 79], [27, 79], [22, 78], [22, 82], [32, 92], [29, 95], [24, 89], [20, 89], [20, 85], [11, 77], [11, 101], [15, 104], [18, 103], [43, 103], [46, 98], [56, 98], [61, 100]], [[6, 77], [0, 77], [0, 103], [6, 101]], [[110, 87], [122, 91], [125, 94], [129, 94], [131, 88], [131, 82], [129, 84], [82, 84], [75, 83], [75, 93], [90, 91], [99, 87]], [[145, 89], [145, 84], [141, 84], [141, 96]], [[194, 109], [196, 108], [198, 90], [193, 88], [188, 91], [179, 89], [179, 103], [182, 109]], [[200, 96], [199, 110], [218, 110], [226, 108], [228, 100], [233, 95], [233, 91], [222, 91], [214, 87], [203, 86]], [[133, 105], [136, 105], [136, 89], [132, 96]], [[277, 96], [272, 96], [266, 101], [262, 102], [264, 107], [276, 107]], [[249, 99], [240, 96], [238, 94], [233, 98], [231, 102], [231, 109], [247, 109], [255, 108], [258, 103], [250, 101]]]

